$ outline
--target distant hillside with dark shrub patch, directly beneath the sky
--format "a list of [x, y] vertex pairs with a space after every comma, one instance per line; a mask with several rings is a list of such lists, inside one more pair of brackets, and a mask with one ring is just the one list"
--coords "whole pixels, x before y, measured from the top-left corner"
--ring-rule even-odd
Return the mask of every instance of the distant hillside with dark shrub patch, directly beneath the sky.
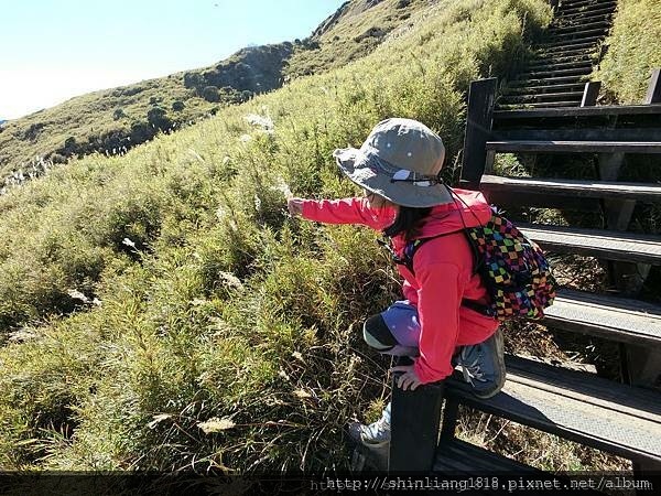
[[214, 66], [95, 91], [7, 122], [0, 127], [0, 187], [69, 158], [122, 154], [158, 132], [180, 129], [284, 80], [342, 66], [371, 52], [386, 33], [429, 4], [354, 0], [303, 41], [242, 48]]

